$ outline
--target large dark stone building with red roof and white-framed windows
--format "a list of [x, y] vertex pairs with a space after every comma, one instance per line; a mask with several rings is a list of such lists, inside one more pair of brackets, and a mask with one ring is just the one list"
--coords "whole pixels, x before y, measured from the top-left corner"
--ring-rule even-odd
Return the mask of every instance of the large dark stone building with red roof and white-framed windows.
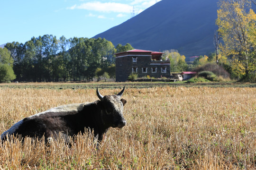
[[138, 77], [170, 78], [170, 60], [162, 61], [163, 52], [130, 50], [116, 53], [116, 81], [127, 81], [135, 72]]

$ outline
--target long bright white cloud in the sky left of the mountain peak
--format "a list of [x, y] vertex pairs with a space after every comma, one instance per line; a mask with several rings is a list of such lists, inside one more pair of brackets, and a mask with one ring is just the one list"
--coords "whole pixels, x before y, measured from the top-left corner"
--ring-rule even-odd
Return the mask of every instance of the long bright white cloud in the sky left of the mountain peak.
[[86, 2], [79, 6], [74, 5], [69, 9], [87, 9], [87, 10], [94, 10], [99, 12], [122, 12], [122, 13], [130, 13], [132, 10], [132, 6], [128, 4], [122, 3], [115, 3], [115, 2]]

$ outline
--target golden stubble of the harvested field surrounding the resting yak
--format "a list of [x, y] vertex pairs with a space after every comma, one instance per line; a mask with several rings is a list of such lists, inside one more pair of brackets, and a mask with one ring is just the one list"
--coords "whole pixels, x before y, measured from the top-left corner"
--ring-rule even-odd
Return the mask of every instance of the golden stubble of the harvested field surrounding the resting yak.
[[[127, 88], [122, 97], [127, 126], [111, 128], [99, 149], [90, 134], [71, 147], [15, 138], [0, 144], [0, 169], [256, 169], [255, 88]], [[0, 88], [0, 133], [38, 112], [95, 100], [95, 89]]]

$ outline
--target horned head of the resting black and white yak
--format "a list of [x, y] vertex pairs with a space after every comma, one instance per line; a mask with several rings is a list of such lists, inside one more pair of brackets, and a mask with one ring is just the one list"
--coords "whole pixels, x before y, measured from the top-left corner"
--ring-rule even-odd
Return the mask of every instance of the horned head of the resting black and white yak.
[[97, 96], [101, 100], [101, 119], [109, 127], [122, 128], [126, 125], [123, 108], [126, 100], [121, 99], [125, 87], [117, 95], [101, 95], [97, 87]]

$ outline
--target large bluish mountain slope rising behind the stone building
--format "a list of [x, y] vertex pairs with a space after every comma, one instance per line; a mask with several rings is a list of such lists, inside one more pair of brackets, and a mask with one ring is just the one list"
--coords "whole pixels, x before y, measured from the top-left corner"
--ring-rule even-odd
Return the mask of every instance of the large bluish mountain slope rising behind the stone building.
[[186, 57], [214, 52], [218, 0], [162, 0], [93, 38], [136, 49], [175, 49]]

